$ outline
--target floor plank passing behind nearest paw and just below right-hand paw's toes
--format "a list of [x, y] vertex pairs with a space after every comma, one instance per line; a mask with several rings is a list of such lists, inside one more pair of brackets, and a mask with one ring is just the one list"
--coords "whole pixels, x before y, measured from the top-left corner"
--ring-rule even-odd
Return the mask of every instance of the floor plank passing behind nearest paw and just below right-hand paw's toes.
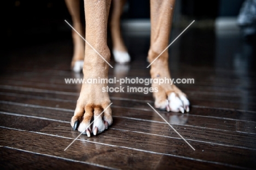
[[[45, 102], [44, 104], [48, 105], [48, 103], [49, 102]], [[40, 105], [27, 105], [27, 107], [24, 108], [26, 104], [15, 103], [15, 102], [12, 102], [12, 103], [0, 102], [0, 106], [1, 106], [0, 111], [25, 114], [25, 115], [28, 113], [32, 113], [28, 115], [33, 115], [33, 116], [44, 115], [50, 119], [69, 121], [73, 115], [74, 110], [62, 109], [59, 107], [59, 104], [53, 105], [53, 107], [45, 107], [44, 105], [42, 107]], [[11, 105], [15, 105], [15, 107], [11, 107]], [[63, 105], [65, 105], [65, 103], [63, 103]], [[145, 111], [145, 110], [126, 108], [126, 110], [128, 110], [129, 112], [124, 112], [123, 111], [124, 108], [118, 108], [118, 107], [113, 107], [112, 110], [113, 110], [113, 115], [118, 117], [162, 122], [162, 119], [158, 115], [156, 115], [156, 113], [152, 110]], [[199, 117], [199, 116], [193, 116], [190, 114], [166, 113], [166, 112], [160, 112], [160, 111], [159, 113], [161, 113], [162, 116], [164, 116], [164, 118], [170, 121], [172, 124], [176, 124], [176, 125], [184, 124], [184, 127], [193, 126], [193, 127], [211, 128], [216, 130], [254, 133], [254, 128], [246, 128], [246, 127], [240, 126], [239, 129], [237, 129], [237, 124], [239, 124], [238, 122], [240, 122], [239, 120], [212, 118], [211, 116]], [[243, 122], [244, 121], [242, 121], [241, 124], [243, 124]], [[247, 124], [247, 123], [251, 124], [251, 127], [253, 127], [253, 125], [256, 124], [256, 122], [252, 122], [252, 121], [244, 122], [244, 124]]]

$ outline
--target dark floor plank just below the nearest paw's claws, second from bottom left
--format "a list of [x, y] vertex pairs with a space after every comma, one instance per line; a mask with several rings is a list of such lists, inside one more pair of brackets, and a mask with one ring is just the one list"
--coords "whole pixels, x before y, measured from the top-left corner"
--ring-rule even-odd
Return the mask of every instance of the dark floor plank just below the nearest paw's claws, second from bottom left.
[[[126, 148], [117, 148], [115, 146], [100, 145], [94, 142], [83, 142], [77, 140], [74, 145], [71, 145], [66, 151], [63, 151], [63, 146], [72, 142], [72, 139], [56, 138], [53, 136], [45, 136], [44, 134], [37, 134], [31, 132], [20, 132], [16, 130], [7, 130], [0, 128], [1, 145], [11, 146], [11, 148], [25, 150], [27, 152], [38, 153], [41, 155], [51, 155], [54, 157], [62, 157], [63, 159], [69, 159], [73, 161], [80, 161], [85, 163], [95, 163], [100, 165], [104, 163], [104, 166], [118, 169], [155, 169], [159, 166], [159, 161], [163, 155], [154, 153], [144, 153], [142, 151], [131, 150]], [[11, 142], [11, 138], [16, 139], [15, 143]], [[40, 139], [40, 140], [38, 140]], [[77, 148], [79, 150], [77, 151]], [[22, 153], [23, 155], [23, 153]], [[109, 156], [111, 155], [111, 156]], [[187, 159], [187, 166], [183, 165], [184, 158], [166, 155], [167, 162], [176, 162], [176, 167], [181, 166], [185, 169], [189, 169], [191, 165], [197, 165], [197, 169], [203, 169], [204, 166], [199, 165], [198, 160]], [[7, 158], [5, 158], [7, 159]], [[34, 157], [33, 157], [34, 159]], [[33, 161], [32, 159], [32, 161]], [[49, 161], [49, 159], [48, 159]], [[52, 161], [51, 161], [52, 162]], [[12, 164], [12, 162], [10, 162]], [[49, 164], [49, 163], [48, 163]], [[48, 165], [47, 164], [47, 165]], [[205, 162], [203, 165], [212, 168], [230, 168], [236, 167], [238, 169], [242, 167], [234, 165], [222, 165], [218, 162]], [[10, 165], [7, 165], [10, 167]], [[173, 165], [164, 165], [165, 168], [173, 168]]]

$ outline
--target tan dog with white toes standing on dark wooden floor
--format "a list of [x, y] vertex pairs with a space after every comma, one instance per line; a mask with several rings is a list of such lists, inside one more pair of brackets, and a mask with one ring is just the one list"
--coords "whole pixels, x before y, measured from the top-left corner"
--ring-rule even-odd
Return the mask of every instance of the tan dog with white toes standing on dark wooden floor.
[[[73, 27], [80, 34], [83, 34], [83, 27], [80, 24], [79, 0], [65, 0], [69, 13], [72, 16]], [[85, 9], [85, 38], [91, 46], [97, 50], [104, 60], [109, 62], [110, 50], [107, 45], [107, 21], [111, 0], [84, 0]], [[150, 21], [151, 37], [148, 51], [148, 61], [152, 63], [156, 57], [168, 46], [168, 38], [172, 26], [172, 16], [175, 0], [150, 0]], [[125, 63], [130, 61], [130, 55], [124, 45], [120, 33], [120, 15], [124, 0], [113, 0], [113, 13], [111, 20], [111, 32], [113, 40], [113, 55], [116, 62]], [[74, 43], [74, 54], [72, 58], [72, 69], [79, 72], [83, 69], [84, 79], [108, 78], [107, 62], [98, 56], [97, 52], [84, 40], [72, 31]], [[84, 47], [85, 46], [85, 47]], [[168, 52], [165, 51], [155, 60], [150, 67], [152, 79], [171, 78], [168, 69]], [[107, 84], [83, 84], [75, 108], [74, 116], [71, 119], [71, 126], [74, 130], [84, 132], [88, 137], [91, 133], [96, 135], [106, 130], [113, 122], [110, 109], [110, 99], [107, 92], [102, 88]], [[189, 112], [189, 101], [187, 96], [175, 85], [155, 84], [152, 87], [158, 88], [153, 92], [155, 107], [168, 112]], [[96, 119], [102, 114], [102, 119]], [[90, 125], [94, 118], [94, 123]], [[85, 129], [87, 127], [87, 129]]]

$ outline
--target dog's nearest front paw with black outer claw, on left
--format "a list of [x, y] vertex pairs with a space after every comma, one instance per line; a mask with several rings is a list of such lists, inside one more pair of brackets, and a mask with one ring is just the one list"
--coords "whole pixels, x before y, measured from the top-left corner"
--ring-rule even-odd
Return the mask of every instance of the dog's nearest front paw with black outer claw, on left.
[[108, 93], [102, 92], [101, 84], [83, 84], [74, 116], [71, 119], [73, 130], [83, 132], [88, 137], [91, 133], [96, 135], [106, 130], [113, 122], [109, 105]]

